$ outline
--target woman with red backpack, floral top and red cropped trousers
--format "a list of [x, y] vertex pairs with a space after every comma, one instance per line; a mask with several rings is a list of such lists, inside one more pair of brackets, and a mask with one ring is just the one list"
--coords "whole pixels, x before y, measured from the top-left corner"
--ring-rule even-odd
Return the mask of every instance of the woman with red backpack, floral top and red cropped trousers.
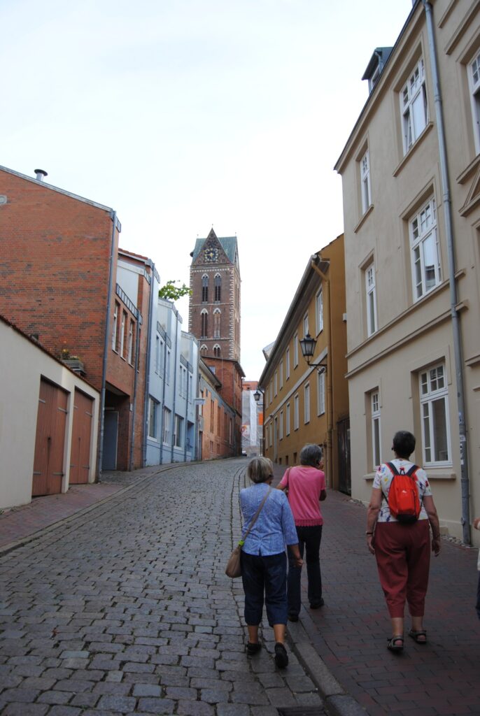
[[415, 443], [411, 432], [395, 432], [395, 459], [380, 465], [375, 473], [365, 533], [390, 612], [392, 637], [388, 649], [393, 652], [403, 650], [405, 601], [412, 620], [408, 636], [417, 644], [426, 644], [423, 614], [430, 551], [438, 556], [441, 546], [440, 524], [426, 472], [409, 459]]

